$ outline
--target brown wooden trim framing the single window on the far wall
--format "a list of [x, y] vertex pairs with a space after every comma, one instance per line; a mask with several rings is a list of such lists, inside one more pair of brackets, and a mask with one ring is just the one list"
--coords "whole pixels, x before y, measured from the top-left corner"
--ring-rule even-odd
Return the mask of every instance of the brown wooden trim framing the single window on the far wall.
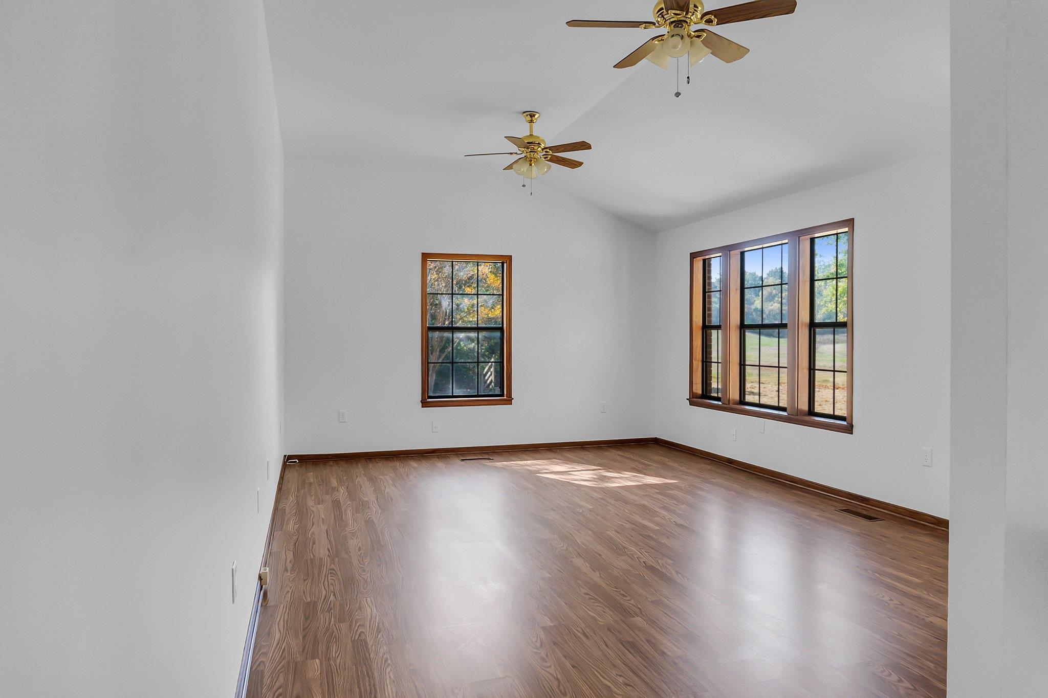
[[[422, 252], [422, 283], [421, 283], [421, 311], [422, 333], [422, 397], [420, 403], [422, 407], [481, 407], [493, 405], [511, 405], [512, 398], [512, 353], [511, 347], [511, 313], [512, 306], [512, 261], [511, 254], [446, 254], [442, 252]], [[464, 398], [430, 398], [430, 334], [427, 322], [428, 289], [427, 270], [431, 261], [458, 261], [458, 262], [501, 262], [505, 265], [502, 272], [502, 383], [503, 393], [498, 397], [484, 398], [468, 396]]]

